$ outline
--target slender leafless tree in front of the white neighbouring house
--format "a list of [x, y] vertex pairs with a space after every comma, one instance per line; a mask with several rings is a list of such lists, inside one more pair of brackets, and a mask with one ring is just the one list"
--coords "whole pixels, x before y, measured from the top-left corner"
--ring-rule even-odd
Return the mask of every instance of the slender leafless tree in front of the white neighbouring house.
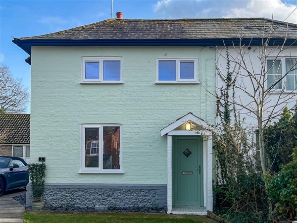
[[[288, 76], [294, 74], [296, 72], [294, 70], [297, 69], [297, 59], [288, 53], [290, 47], [296, 45], [297, 40], [288, 44], [288, 33], [285, 33], [282, 44], [273, 45], [271, 38], [273, 23], [272, 20], [270, 27], [264, 27], [261, 46], [252, 47], [252, 40], [249, 44], [244, 44], [244, 37], [239, 30], [238, 45], [233, 44], [232, 47], [225, 46], [217, 49], [219, 57], [223, 57], [229, 63], [231, 70], [233, 69], [231, 79], [227, 78], [225, 66], [216, 63], [217, 73], [222, 82], [234, 88], [237, 94], [237, 100], [232, 101], [229, 98], [228, 103], [235, 104], [240, 113], [245, 113], [256, 120], [257, 124], [254, 127], [258, 130], [263, 174], [269, 170], [265, 163], [263, 130], [281, 114], [288, 103], [296, 102], [297, 95], [297, 86], [295, 86], [297, 84], [292, 85]], [[251, 52], [256, 52], [257, 56], [251, 56]], [[286, 64], [283, 64], [282, 58], [285, 57]], [[256, 64], [260, 64], [260, 67]], [[217, 94], [216, 97], [226, 101], [222, 95]]]

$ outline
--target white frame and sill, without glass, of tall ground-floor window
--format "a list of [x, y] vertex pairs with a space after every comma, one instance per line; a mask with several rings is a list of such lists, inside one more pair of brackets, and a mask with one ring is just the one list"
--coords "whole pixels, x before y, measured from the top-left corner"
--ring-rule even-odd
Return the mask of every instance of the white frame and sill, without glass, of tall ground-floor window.
[[[120, 169], [103, 169], [103, 127], [106, 126], [118, 126], [120, 127]], [[99, 167], [85, 167], [85, 134], [86, 128], [99, 128]], [[122, 134], [122, 124], [111, 124], [111, 123], [92, 123], [92, 124], [82, 124], [81, 125], [81, 170], [79, 173], [124, 173], [123, 172], [123, 134]]]

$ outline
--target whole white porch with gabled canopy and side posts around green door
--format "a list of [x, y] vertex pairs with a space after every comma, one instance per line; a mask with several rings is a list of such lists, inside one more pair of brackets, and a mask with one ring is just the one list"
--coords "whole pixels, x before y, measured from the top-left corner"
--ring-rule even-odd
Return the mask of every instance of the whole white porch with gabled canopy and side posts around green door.
[[[206, 215], [207, 210], [212, 211], [212, 133], [209, 131], [211, 126], [194, 115], [188, 113], [175, 122], [169, 124], [161, 130], [161, 136], [167, 135], [167, 213], [170, 214], [188, 214], [188, 215]], [[202, 160], [203, 165], [201, 174], [203, 175], [203, 204], [199, 211], [195, 211], [191, 207], [186, 212], [181, 212], [175, 207], [172, 196], [172, 152], [173, 152], [173, 137], [175, 136], [200, 136], [202, 137]], [[192, 137], [191, 137], [192, 138]], [[198, 165], [198, 164], [197, 164]], [[195, 166], [197, 167], [197, 166]], [[202, 202], [201, 202], [202, 204]], [[188, 210], [188, 209], [187, 209]]]

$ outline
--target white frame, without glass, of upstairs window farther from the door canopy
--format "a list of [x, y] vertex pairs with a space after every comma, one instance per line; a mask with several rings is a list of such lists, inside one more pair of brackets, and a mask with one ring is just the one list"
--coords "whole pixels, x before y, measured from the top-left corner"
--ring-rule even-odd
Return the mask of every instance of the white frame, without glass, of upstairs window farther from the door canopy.
[[[104, 81], [103, 80], [103, 62], [120, 61], [120, 80]], [[99, 62], [99, 79], [86, 78], [86, 62]], [[81, 84], [122, 84], [123, 83], [123, 57], [115, 56], [84, 56], [82, 57], [82, 80]]]

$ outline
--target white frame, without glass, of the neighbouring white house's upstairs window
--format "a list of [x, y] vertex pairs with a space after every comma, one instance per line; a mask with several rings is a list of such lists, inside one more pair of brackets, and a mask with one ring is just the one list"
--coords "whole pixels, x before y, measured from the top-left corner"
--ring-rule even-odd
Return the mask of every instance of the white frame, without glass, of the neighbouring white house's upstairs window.
[[[282, 69], [282, 77], [286, 74], [286, 59], [297, 59], [297, 56], [283, 56], [283, 57], [280, 57], [280, 58], [277, 58], [277, 57], [267, 57], [266, 58], [266, 89], [268, 89], [268, 75], [271, 75], [271, 74], [268, 74], [268, 67], [267, 67], [267, 60], [281, 60], [281, 69]], [[288, 74], [288, 75], [291, 75], [291, 74]], [[284, 88], [285, 86], [285, 83], [286, 83], [286, 77], [282, 79], [282, 88], [279, 88], [279, 89], [272, 89], [270, 93], [272, 94], [279, 94], [282, 89]], [[287, 86], [286, 86], [287, 87]], [[297, 89], [296, 90], [287, 90], [285, 88], [284, 90], [284, 93], [296, 93], [297, 92]]]

